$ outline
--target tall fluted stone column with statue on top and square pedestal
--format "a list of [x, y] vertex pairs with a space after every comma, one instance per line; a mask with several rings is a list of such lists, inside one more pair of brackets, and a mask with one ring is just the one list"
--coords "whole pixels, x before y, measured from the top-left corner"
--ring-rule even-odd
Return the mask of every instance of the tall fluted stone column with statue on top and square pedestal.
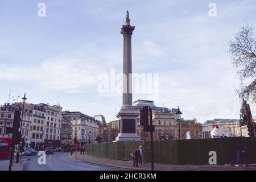
[[129, 12], [126, 21], [121, 28], [123, 35], [123, 104], [116, 115], [119, 123], [120, 133], [115, 140], [140, 140], [137, 134], [137, 117], [139, 111], [133, 107], [132, 77], [131, 77], [131, 35], [134, 26], [130, 24]]

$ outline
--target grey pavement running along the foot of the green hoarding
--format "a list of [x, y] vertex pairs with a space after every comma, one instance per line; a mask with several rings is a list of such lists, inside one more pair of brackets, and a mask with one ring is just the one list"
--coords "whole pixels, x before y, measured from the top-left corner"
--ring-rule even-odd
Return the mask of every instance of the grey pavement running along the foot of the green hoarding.
[[[68, 159], [88, 163], [97, 164], [105, 167], [115, 167], [119, 169], [138, 170], [138, 171], [151, 171], [151, 163], [142, 164], [139, 167], [133, 167], [133, 161], [131, 160], [113, 160], [104, 158], [95, 158], [88, 155], [68, 154]], [[156, 171], [256, 171], [256, 165], [252, 164], [249, 167], [235, 167], [230, 165], [171, 165], [171, 164], [154, 164]]]

